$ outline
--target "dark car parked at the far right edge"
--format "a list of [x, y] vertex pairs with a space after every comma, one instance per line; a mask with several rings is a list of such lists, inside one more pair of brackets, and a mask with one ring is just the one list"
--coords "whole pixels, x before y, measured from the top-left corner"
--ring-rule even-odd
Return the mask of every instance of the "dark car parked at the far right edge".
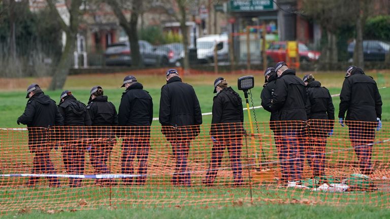
[[[349, 58], [353, 57], [355, 42], [348, 45]], [[389, 52], [390, 43], [377, 40], [363, 41], [363, 58], [365, 61], [384, 61], [386, 54]]]

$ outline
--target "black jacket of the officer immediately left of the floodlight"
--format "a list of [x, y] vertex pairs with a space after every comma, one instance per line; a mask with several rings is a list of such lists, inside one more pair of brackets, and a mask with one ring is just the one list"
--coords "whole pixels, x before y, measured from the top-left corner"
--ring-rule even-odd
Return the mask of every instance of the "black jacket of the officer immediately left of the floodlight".
[[222, 89], [213, 98], [210, 135], [232, 137], [244, 134], [244, 113], [240, 95], [231, 87]]

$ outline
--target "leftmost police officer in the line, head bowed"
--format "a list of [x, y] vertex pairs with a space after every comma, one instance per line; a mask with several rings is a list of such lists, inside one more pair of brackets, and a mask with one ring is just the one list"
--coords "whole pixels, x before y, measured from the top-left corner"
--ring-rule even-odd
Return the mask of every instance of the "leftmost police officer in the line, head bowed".
[[[50, 126], [62, 126], [63, 118], [58, 112], [55, 101], [45, 95], [39, 85], [31, 84], [27, 88], [27, 101], [24, 113], [18, 118], [17, 124], [27, 125], [28, 149], [35, 153], [32, 161], [32, 174], [56, 174], [50, 160], [52, 145], [48, 142]], [[29, 177], [27, 186], [35, 186], [39, 177]], [[50, 187], [59, 187], [57, 177], [47, 177]]]

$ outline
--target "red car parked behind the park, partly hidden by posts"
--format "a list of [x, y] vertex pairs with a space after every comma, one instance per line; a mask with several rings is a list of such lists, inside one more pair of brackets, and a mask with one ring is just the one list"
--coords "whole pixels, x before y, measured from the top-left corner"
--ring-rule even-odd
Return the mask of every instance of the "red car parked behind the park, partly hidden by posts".
[[[301, 62], [309, 62], [318, 60], [321, 55], [318, 51], [309, 50], [303, 43], [298, 44], [299, 56]], [[272, 42], [267, 49], [268, 62], [286, 61], [286, 42]]]

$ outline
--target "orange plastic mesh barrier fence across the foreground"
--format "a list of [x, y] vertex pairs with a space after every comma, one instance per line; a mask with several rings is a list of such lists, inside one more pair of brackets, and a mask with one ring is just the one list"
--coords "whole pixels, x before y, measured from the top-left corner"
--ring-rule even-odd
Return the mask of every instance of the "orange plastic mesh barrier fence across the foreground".
[[[383, 123], [0, 129], [0, 212], [240, 203], [389, 207]], [[211, 130], [211, 131], [210, 131]], [[333, 132], [332, 132], [333, 131]]]

